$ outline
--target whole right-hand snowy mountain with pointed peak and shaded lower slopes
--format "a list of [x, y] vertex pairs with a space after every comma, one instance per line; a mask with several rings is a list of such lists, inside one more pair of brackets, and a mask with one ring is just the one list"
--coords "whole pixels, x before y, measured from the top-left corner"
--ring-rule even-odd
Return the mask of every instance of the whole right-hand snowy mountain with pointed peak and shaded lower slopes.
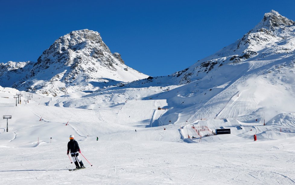
[[[169, 105], [177, 105], [173, 110], [162, 115], [163, 120], [194, 121], [199, 118], [230, 118], [241, 116], [241, 120], [254, 119], [260, 111], [268, 109], [267, 99], [275, 101], [274, 97], [293, 93], [295, 66], [295, 25], [294, 21], [281, 16], [276, 11], [266, 13], [257, 26], [246, 33], [243, 38], [224, 47], [213, 55], [199, 60], [192, 66], [169, 76], [154, 77], [125, 84], [122, 87], [103, 91], [120, 95], [123, 89], [129, 91], [136, 88], [152, 89], [146, 97], [137, 94], [124, 95], [126, 99], [166, 99]], [[265, 84], [271, 92], [264, 92]], [[252, 87], [249, 99], [253, 102], [249, 107], [242, 108], [230, 103], [235, 96]], [[286, 88], [288, 86], [288, 88]], [[153, 87], [153, 88], [151, 88]], [[280, 89], [278, 89], [280, 88]], [[120, 91], [118, 91], [120, 89]], [[100, 92], [101, 93], [101, 92]], [[126, 93], [125, 93], [126, 94]], [[94, 93], [93, 96], [101, 96]], [[240, 97], [240, 99], [242, 99]], [[281, 98], [280, 101], [285, 102]], [[232, 102], [233, 101], [233, 102]], [[288, 99], [285, 107], [280, 103], [273, 107], [271, 117], [289, 112], [286, 107], [295, 104]], [[230, 106], [230, 105], [231, 106]], [[250, 106], [251, 105], [251, 106]], [[228, 107], [230, 106], [230, 107]], [[227, 112], [233, 108], [236, 111]], [[185, 113], [184, 113], [185, 112]], [[171, 118], [172, 114], [177, 117]], [[165, 118], [166, 116], [166, 118]], [[259, 115], [261, 117], [262, 115]], [[180, 118], [182, 117], [182, 118]]]

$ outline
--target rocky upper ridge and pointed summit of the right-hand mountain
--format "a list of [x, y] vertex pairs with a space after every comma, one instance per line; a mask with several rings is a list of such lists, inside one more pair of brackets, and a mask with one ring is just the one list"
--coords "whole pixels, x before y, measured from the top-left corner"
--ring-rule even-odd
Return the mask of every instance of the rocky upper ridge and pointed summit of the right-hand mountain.
[[280, 59], [282, 56], [294, 55], [294, 24], [293, 20], [271, 10], [241, 39], [199, 60], [192, 66], [170, 75], [172, 80], [168, 82], [188, 84], [210, 75], [213, 71], [224, 70], [224, 65], [229, 64], [231, 68], [235, 68], [243, 62], [266, 60], [268, 57]]

